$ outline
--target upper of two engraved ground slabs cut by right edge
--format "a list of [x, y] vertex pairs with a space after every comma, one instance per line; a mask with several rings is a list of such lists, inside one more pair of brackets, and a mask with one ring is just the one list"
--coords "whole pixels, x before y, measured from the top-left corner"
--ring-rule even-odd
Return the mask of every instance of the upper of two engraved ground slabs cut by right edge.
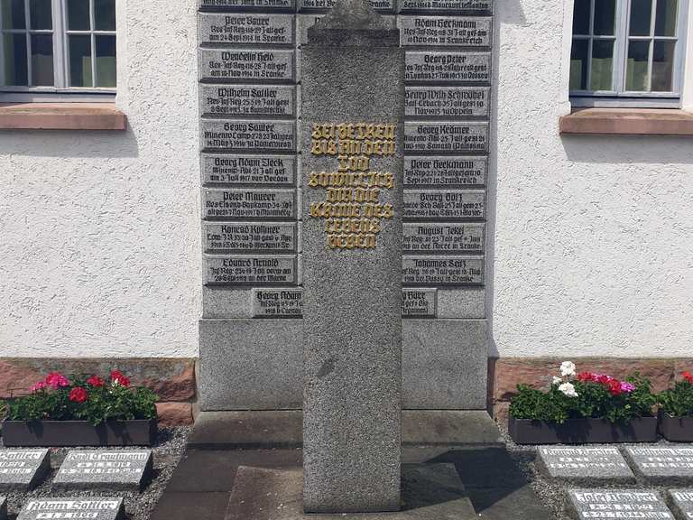
[[693, 445], [675, 448], [635, 447], [625, 449], [635, 474], [661, 484], [693, 482]]

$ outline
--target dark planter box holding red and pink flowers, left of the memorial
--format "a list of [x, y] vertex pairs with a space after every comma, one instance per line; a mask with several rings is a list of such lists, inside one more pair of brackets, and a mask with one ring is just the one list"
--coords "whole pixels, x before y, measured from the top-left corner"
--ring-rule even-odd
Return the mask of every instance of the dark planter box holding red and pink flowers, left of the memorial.
[[5, 421], [3, 443], [14, 446], [152, 446], [156, 419], [108, 421]]

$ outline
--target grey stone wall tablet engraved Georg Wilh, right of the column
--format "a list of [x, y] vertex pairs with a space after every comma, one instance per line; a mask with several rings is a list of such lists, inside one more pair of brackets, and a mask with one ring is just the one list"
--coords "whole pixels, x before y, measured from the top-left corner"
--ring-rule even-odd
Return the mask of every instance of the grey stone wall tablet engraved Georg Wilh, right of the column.
[[407, 87], [405, 116], [488, 117], [490, 88]]

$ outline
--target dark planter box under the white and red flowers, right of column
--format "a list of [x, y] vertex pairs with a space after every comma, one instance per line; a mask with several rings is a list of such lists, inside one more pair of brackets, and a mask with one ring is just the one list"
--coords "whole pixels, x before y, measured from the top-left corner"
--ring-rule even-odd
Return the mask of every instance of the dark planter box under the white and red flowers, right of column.
[[511, 417], [508, 429], [517, 444], [657, 441], [657, 417], [640, 417], [628, 424], [612, 424], [605, 419], [569, 419], [557, 424]]

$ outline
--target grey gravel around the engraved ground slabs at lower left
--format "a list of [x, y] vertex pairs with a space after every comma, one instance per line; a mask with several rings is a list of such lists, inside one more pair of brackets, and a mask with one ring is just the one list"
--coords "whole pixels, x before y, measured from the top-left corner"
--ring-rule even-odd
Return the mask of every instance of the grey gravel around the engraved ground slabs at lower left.
[[[53, 493], [51, 483], [60, 467], [60, 463], [69, 450], [96, 450], [97, 448], [56, 448], [51, 449], [51, 473], [42, 485], [28, 492], [2, 493], [7, 497], [7, 509], [10, 520], [14, 520], [20, 509], [30, 498], [57, 498], [57, 497], [103, 497], [115, 496], [125, 499], [125, 513], [131, 520], [147, 520], [152, 509], [162, 496], [163, 489], [171, 479], [173, 469], [176, 468], [180, 456], [185, 450], [190, 427], [161, 428], [157, 436], [156, 444], [152, 446], [154, 458], [154, 472], [152, 482], [144, 488], [143, 493], [114, 492], [104, 493], [94, 491], [69, 491]], [[3, 447], [0, 441], [0, 448]], [[128, 448], [109, 447], [108, 450], [126, 450]]]

